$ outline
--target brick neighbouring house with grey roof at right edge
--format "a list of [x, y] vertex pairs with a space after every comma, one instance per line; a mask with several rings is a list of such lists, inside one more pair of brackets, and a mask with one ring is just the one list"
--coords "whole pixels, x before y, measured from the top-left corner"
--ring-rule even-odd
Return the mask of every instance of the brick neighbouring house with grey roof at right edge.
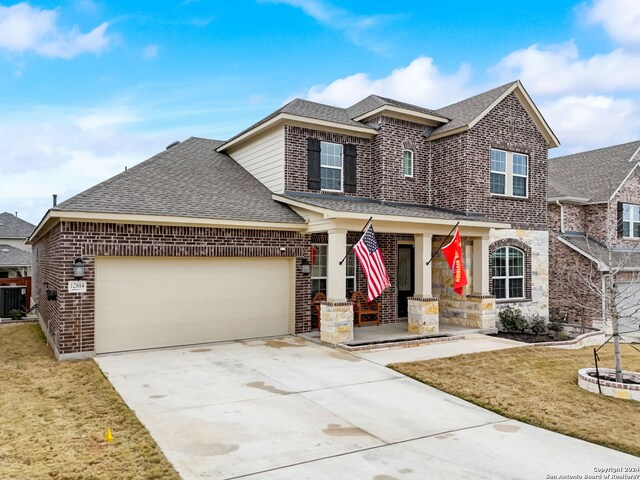
[[[611, 267], [621, 268], [616, 284], [626, 292], [619, 307], [640, 305], [638, 162], [640, 141], [549, 160], [552, 316], [609, 330], [606, 305], [585, 279], [600, 286]], [[631, 329], [637, 323], [623, 318], [621, 331]]]

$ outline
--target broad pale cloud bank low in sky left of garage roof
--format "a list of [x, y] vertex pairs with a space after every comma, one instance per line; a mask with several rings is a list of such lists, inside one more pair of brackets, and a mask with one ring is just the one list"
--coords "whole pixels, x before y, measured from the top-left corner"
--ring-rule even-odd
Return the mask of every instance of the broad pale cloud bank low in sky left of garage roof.
[[180, 138], [175, 132], [127, 131], [133, 115], [102, 112], [47, 112], [46, 120], [40, 119], [42, 112], [29, 112], [17, 121], [0, 119], [0, 178], [8, 187], [0, 194], [0, 208], [37, 223], [52, 194], [62, 202]]

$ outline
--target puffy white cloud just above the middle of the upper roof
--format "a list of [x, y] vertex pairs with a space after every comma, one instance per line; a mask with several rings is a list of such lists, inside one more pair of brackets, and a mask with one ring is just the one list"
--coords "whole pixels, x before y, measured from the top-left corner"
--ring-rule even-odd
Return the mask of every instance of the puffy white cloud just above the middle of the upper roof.
[[315, 102], [346, 107], [373, 93], [427, 108], [439, 108], [472, 93], [470, 76], [466, 65], [448, 75], [438, 70], [432, 58], [418, 57], [386, 77], [372, 79], [366, 73], [356, 73], [329, 85], [313, 86], [305, 96]]

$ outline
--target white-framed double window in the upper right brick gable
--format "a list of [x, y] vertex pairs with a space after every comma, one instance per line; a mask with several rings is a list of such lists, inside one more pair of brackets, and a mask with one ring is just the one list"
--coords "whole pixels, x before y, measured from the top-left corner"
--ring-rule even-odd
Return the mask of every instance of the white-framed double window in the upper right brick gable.
[[491, 193], [526, 198], [529, 195], [529, 156], [491, 149]]

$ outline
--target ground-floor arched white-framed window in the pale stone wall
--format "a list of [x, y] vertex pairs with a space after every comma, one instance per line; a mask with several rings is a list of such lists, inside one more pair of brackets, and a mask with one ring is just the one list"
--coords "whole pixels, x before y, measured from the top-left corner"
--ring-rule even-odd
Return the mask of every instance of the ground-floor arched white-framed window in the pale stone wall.
[[521, 299], [525, 296], [524, 252], [502, 247], [492, 254], [493, 294], [497, 299]]

